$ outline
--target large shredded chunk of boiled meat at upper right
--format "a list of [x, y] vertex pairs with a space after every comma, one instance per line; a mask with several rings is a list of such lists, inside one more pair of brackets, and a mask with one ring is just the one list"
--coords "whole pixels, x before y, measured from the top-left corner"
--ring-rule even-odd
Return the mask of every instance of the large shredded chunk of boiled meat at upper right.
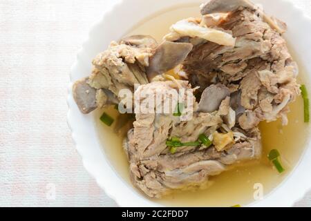
[[238, 102], [232, 110], [243, 129], [278, 118], [286, 124], [287, 105], [300, 92], [296, 83], [299, 70], [285, 39], [249, 1], [211, 0], [202, 6], [202, 15], [222, 12], [227, 17], [217, 28], [232, 32], [234, 48], [209, 41], [198, 44], [183, 62], [183, 70], [201, 91], [211, 84], [227, 86], [238, 98], [231, 99]]

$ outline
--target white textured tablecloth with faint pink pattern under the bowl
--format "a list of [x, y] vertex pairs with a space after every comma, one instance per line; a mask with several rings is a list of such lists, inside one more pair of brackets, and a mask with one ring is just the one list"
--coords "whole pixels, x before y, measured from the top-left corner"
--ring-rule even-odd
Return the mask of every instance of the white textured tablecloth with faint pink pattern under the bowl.
[[[0, 206], [116, 206], [66, 123], [70, 66], [113, 2], [0, 0]], [[311, 16], [310, 0], [294, 3]]]

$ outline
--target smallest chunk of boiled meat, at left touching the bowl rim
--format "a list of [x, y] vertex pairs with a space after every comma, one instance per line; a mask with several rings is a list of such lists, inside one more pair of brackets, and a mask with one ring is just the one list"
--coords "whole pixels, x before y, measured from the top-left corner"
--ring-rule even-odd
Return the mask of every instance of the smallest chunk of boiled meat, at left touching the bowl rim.
[[[133, 93], [135, 84], [147, 84], [146, 68], [157, 46], [155, 39], [145, 35], [124, 37], [120, 43], [112, 41], [109, 48], [93, 60], [93, 70], [87, 81], [79, 80], [73, 88], [82, 113], [117, 104], [122, 100], [120, 90]], [[84, 88], [90, 95], [83, 93]]]

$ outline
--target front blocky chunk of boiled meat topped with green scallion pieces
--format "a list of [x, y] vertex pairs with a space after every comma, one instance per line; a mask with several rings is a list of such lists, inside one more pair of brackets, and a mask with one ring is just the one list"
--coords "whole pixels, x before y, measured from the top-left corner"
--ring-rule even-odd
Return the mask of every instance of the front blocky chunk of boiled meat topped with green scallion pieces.
[[[180, 86], [182, 86], [180, 88]], [[140, 86], [135, 96], [140, 102], [135, 110], [144, 111], [156, 95], [157, 89], [161, 93], [161, 103], [178, 102], [170, 96], [175, 90], [193, 89], [187, 81], [154, 81]], [[218, 175], [241, 160], [251, 160], [260, 157], [260, 134], [245, 133], [243, 131], [229, 131], [225, 134], [223, 117], [229, 114], [229, 97], [225, 97], [218, 110], [213, 113], [201, 113], [194, 97], [190, 105], [194, 108], [192, 118], [181, 121], [180, 117], [171, 113], [136, 113], [134, 128], [128, 133], [124, 142], [124, 150], [129, 157], [131, 180], [138, 189], [151, 198], [161, 198], [176, 189], [195, 189], [206, 186], [210, 175]], [[135, 103], [136, 104], [136, 103]], [[186, 105], [188, 106], [188, 104]], [[236, 128], [233, 128], [236, 130]], [[180, 146], [176, 153], [171, 153], [166, 142], [169, 137], [180, 137], [180, 142], [194, 142], [204, 133], [214, 135], [214, 144], [209, 148], [202, 146]], [[219, 136], [216, 134], [219, 133]], [[236, 135], [235, 135], [236, 134]], [[243, 138], [238, 138], [243, 137]], [[235, 141], [237, 140], [237, 143]], [[242, 140], [239, 140], [242, 139]], [[234, 148], [234, 149], [232, 149]]]

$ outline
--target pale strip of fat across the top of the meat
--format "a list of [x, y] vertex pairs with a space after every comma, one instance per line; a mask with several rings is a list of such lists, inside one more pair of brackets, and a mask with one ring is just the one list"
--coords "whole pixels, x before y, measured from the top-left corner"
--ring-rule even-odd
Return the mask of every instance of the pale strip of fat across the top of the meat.
[[196, 23], [187, 20], [181, 20], [173, 24], [171, 31], [177, 32], [181, 37], [200, 37], [223, 46], [234, 46], [236, 43], [236, 38], [227, 32], [198, 26]]

